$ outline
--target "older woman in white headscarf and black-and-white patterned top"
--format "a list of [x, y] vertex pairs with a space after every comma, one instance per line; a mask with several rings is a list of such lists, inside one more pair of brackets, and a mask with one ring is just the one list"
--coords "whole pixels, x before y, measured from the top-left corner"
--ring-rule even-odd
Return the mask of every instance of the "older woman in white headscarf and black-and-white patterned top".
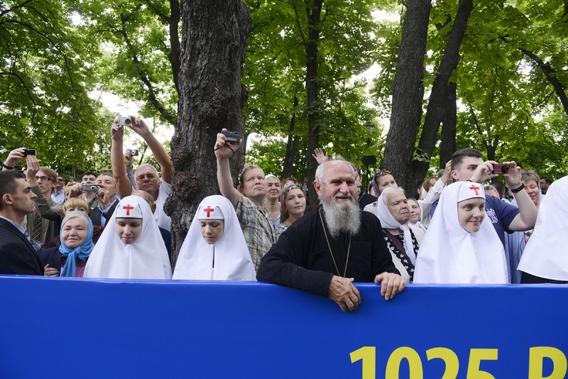
[[395, 267], [406, 282], [412, 282], [415, 272], [416, 253], [424, 232], [410, 224], [410, 208], [404, 189], [388, 187], [373, 204], [368, 204], [366, 212], [371, 212], [381, 221], [384, 238]]

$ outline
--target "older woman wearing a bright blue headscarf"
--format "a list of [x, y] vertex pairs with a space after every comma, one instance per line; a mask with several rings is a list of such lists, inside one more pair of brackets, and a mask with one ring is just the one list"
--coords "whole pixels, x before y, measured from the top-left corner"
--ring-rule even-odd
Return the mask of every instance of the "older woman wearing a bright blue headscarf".
[[84, 212], [68, 212], [61, 224], [61, 245], [39, 251], [45, 276], [82, 277], [94, 248], [93, 224]]

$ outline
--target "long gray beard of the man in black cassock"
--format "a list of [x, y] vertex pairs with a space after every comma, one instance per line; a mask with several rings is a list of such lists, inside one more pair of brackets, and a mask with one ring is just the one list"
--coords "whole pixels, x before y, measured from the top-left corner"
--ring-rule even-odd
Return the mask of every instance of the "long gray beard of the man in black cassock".
[[331, 199], [322, 198], [324, 207], [324, 219], [327, 229], [332, 238], [337, 238], [342, 231], [356, 235], [361, 228], [361, 208], [354, 198], [346, 203], [349, 206], [344, 208], [333, 197]]

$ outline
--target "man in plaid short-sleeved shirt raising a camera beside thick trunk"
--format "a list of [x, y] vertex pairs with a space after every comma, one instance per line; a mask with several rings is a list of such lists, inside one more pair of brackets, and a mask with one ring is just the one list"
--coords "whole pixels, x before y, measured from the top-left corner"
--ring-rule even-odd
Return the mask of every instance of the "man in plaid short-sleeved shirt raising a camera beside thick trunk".
[[268, 189], [261, 167], [251, 164], [243, 167], [239, 178], [239, 190], [244, 196], [241, 196], [241, 192], [233, 187], [229, 158], [234, 151], [241, 147], [242, 143], [243, 140], [241, 139], [235, 145], [228, 145], [224, 134], [217, 133], [217, 141], [214, 147], [217, 157], [217, 181], [221, 194], [229, 199], [235, 208], [246, 246], [249, 247], [249, 253], [251, 253], [254, 268], [258, 270], [261, 258], [276, 241], [276, 231], [270, 212], [265, 207]]

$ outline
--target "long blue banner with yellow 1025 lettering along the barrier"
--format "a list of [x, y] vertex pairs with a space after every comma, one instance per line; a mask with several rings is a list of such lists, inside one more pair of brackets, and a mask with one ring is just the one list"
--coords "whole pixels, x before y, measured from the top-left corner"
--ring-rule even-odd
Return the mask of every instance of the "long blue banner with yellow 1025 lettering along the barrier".
[[564, 378], [568, 286], [0, 276], [0, 378]]

